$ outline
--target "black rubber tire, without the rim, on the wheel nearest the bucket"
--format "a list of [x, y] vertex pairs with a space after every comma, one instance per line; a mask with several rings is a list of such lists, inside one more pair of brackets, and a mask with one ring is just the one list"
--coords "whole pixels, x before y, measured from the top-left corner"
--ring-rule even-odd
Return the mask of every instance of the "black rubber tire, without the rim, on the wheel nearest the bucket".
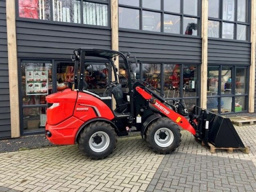
[[[171, 142], [170, 140], [171, 143], [169, 146], [161, 147], [155, 141], [155, 138], [154, 138], [155, 133], [156, 132], [159, 133], [159, 130], [161, 130], [161, 128], [164, 128], [165, 130], [167, 128], [168, 130], [166, 132], [169, 132], [170, 130], [172, 132], [171, 134], [173, 134], [173, 141]], [[148, 144], [148, 147], [151, 148], [156, 153], [160, 153], [160, 154], [171, 153], [175, 151], [177, 147], [180, 146], [180, 141], [181, 141], [180, 127], [176, 123], [174, 123], [171, 119], [167, 117], [160, 117], [148, 126], [148, 129], [146, 130], [146, 133], [145, 133], [145, 140]], [[159, 137], [159, 140], [160, 140], [160, 137]]]

